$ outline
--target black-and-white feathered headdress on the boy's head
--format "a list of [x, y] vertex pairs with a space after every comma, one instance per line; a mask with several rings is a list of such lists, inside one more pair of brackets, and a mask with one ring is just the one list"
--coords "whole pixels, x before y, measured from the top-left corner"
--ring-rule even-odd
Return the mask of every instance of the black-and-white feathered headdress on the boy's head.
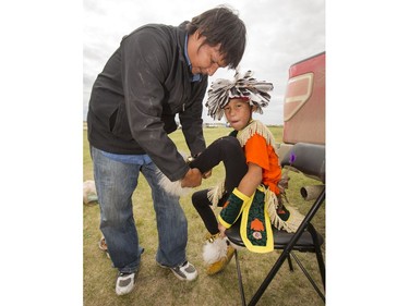
[[270, 98], [267, 91], [273, 90], [274, 86], [265, 81], [256, 81], [252, 75], [253, 72], [249, 70], [244, 76], [236, 72], [232, 82], [225, 78], [213, 82], [207, 91], [207, 114], [213, 119], [220, 120], [224, 115], [222, 109], [231, 98], [245, 98], [251, 106], [255, 106], [256, 112], [263, 113], [262, 107], [268, 106]]

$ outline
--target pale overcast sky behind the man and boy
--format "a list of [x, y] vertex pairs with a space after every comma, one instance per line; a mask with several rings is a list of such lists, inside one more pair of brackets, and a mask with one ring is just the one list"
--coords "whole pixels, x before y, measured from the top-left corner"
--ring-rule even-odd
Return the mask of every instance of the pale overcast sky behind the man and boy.
[[[241, 71], [253, 70], [256, 78], [274, 84], [270, 105], [262, 117], [256, 117], [267, 124], [282, 124], [289, 66], [325, 51], [324, 0], [84, 0], [84, 120], [92, 85], [124, 35], [146, 23], [179, 25], [218, 4], [231, 5], [245, 23], [248, 45]], [[219, 69], [209, 82], [233, 74], [231, 70]], [[206, 113], [204, 109], [204, 121], [212, 122]]]

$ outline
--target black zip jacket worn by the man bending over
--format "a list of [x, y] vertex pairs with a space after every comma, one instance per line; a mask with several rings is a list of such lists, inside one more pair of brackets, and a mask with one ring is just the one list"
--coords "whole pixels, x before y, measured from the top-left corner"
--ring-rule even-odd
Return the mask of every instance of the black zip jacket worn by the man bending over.
[[190, 81], [185, 24], [148, 24], [125, 36], [94, 83], [87, 115], [92, 146], [113, 154], [147, 154], [171, 181], [189, 170], [167, 135], [177, 130], [177, 113], [191, 154], [205, 148], [202, 101], [207, 76]]

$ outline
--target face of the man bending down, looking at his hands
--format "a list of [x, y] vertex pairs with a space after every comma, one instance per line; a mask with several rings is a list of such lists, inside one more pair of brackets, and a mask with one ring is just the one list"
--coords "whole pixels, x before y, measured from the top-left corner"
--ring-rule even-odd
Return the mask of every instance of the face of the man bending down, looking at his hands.
[[189, 36], [188, 54], [192, 63], [193, 74], [200, 73], [212, 76], [219, 68], [225, 68], [227, 64], [219, 52], [220, 45], [210, 47], [207, 44], [203, 45], [204, 40], [205, 37], [199, 37], [197, 30]]

